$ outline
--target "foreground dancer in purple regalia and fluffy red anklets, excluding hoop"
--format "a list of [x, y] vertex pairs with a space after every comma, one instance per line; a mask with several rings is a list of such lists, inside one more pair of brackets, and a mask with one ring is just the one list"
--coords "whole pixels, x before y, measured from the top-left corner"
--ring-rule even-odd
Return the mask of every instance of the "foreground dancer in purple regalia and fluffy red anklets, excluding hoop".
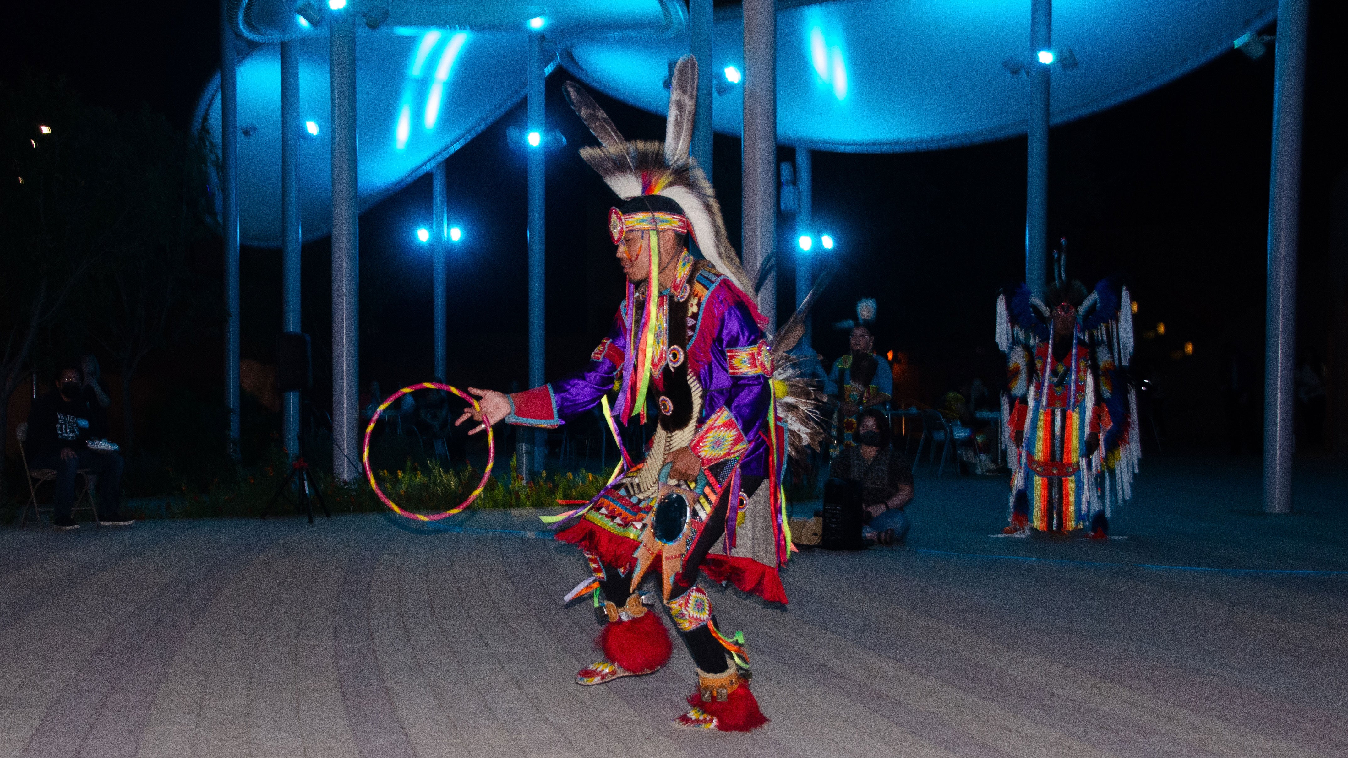
[[[565, 85], [601, 143], [582, 148], [581, 158], [623, 199], [609, 211], [609, 233], [627, 296], [584, 370], [511, 396], [472, 392], [492, 421], [545, 428], [597, 404], [611, 428], [615, 416], [644, 423], [647, 397], [655, 397], [659, 423], [644, 460], [627, 460], [624, 451], [590, 504], [557, 517], [558, 539], [578, 545], [593, 572], [566, 599], [596, 588], [607, 615], [599, 640], [604, 660], [576, 680], [604, 684], [669, 662], [669, 633], [639, 592], [654, 567], [698, 677], [692, 710], [673, 724], [748, 731], [767, 719], [749, 692], [743, 637], [717, 629], [697, 576], [786, 602], [778, 578], [790, 549], [783, 458], [789, 446], [817, 446], [822, 438], [822, 393], [790, 376], [794, 358], [786, 350], [803, 334], [803, 312], [821, 287], [770, 342], [714, 191], [689, 158], [696, 81], [697, 62], [685, 55], [671, 77], [665, 143], [625, 141], [585, 90]], [[689, 238], [705, 260], [693, 257]], [[617, 407], [609, 413], [615, 382]]]

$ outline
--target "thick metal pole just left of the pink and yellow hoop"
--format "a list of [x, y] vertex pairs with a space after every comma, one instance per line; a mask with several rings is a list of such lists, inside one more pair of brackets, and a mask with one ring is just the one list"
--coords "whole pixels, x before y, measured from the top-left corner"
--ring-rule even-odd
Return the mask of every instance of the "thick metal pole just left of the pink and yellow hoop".
[[359, 268], [360, 206], [356, 188], [356, 20], [348, 5], [328, 13], [333, 133], [333, 474], [357, 475], [360, 411]]

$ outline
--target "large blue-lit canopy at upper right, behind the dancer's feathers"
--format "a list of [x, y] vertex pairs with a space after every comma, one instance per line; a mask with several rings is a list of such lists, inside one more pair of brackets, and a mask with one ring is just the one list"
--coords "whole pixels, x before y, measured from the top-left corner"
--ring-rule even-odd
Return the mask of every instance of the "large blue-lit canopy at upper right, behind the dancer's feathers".
[[[787, 7], [791, 5], [791, 7]], [[778, 135], [830, 151], [938, 149], [1026, 129], [1029, 0], [779, 3]], [[1275, 0], [1054, 0], [1051, 123], [1142, 94], [1231, 50], [1274, 19]], [[669, 61], [687, 32], [661, 42], [577, 40], [562, 65], [588, 85], [663, 113]], [[744, 70], [739, 8], [717, 13], [713, 71]], [[1070, 50], [1070, 54], [1069, 54]], [[1076, 67], [1064, 69], [1061, 63]], [[723, 82], [725, 88], [728, 82]], [[743, 93], [713, 96], [717, 132], [743, 129]]]

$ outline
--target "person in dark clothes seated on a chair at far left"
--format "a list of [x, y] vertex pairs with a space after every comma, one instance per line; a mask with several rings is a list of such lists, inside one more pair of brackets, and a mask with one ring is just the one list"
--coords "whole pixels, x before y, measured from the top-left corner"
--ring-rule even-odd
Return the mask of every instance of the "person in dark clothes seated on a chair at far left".
[[34, 469], [57, 473], [57, 499], [53, 525], [78, 529], [70, 516], [75, 502], [75, 475], [81, 469], [98, 475], [98, 524], [129, 526], [135, 520], [121, 514], [123, 460], [113, 450], [90, 450], [90, 439], [106, 435], [102, 408], [90, 407], [85, 396], [85, 378], [71, 364], [57, 373], [57, 389], [42, 396], [28, 412], [28, 447]]

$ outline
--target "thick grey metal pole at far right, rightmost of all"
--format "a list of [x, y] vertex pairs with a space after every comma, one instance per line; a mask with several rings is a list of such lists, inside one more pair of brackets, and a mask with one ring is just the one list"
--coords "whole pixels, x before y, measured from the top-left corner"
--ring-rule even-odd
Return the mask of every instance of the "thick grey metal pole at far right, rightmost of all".
[[1278, 1], [1268, 190], [1264, 347], [1264, 512], [1291, 513], [1293, 380], [1297, 337], [1297, 230], [1308, 0]]

